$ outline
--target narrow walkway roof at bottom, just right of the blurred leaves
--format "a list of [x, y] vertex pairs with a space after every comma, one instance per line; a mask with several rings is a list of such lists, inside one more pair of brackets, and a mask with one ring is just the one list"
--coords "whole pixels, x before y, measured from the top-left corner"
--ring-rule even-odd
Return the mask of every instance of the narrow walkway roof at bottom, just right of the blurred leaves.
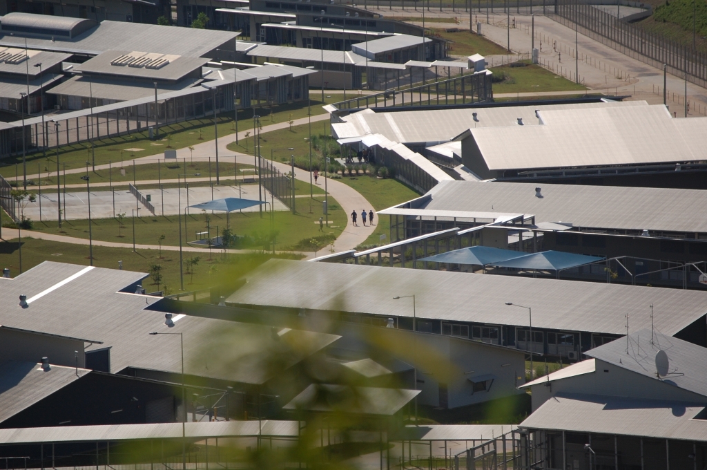
[[443, 424], [416, 426], [407, 425], [394, 435], [395, 440], [491, 440], [506, 432], [518, 429], [506, 424]]

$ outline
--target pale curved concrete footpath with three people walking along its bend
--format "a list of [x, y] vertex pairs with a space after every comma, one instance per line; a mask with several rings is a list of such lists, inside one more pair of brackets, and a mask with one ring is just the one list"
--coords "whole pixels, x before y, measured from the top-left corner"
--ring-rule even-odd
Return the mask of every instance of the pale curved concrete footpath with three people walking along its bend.
[[[316, 115], [312, 116], [312, 122], [317, 122], [317, 121], [323, 121], [329, 119], [328, 114], [324, 115]], [[303, 117], [298, 120], [294, 120], [293, 125], [303, 125], [307, 124], [309, 122], [309, 117]], [[272, 125], [267, 125], [263, 126], [261, 133], [264, 132], [272, 132], [274, 130], [281, 130], [281, 129], [286, 129], [290, 125], [288, 122], [278, 122], [276, 124]], [[238, 132], [238, 138], [239, 139], [245, 139], [245, 133], [246, 132], [252, 132], [252, 130], [245, 130]], [[228, 134], [225, 137], [221, 137], [218, 139], [218, 156], [219, 157], [228, 157], [228, 158], [233, 158], [233, 156], [236, 157], [236, 160], [238, 163], [242, 164], [252, 164], [252, 155], [247, 155], [247, 154], [240, 154], [238, 152], [231, 151], [227, 148], [228, 144], [235, 142], [235, 133], [233, 134]], [[214, 157], [214, 140], [206, 141], [206, 142], [201, 142], [200, 144], [194, 145], [194, 150], [189, 151], [188, 148], [183, 148], [183, 149], [177, 149], [177, 159], [196, 159], [197, 161], [205, 161], [209, 158]], [[156, 155], [151, 155], [151, 156], [144, 156], [139, 159], [135, 159], [135, 164], [136, 165], [141, 165], [141, 164], [151, 164], [154, 163], [156, 159], [161, 159], [163, 158], [163, 154], [156, 154]], [[291, 167], [286, 164], [281, 164], [277, 161], [273, 161], [272, 164], [281, 172], [283, 173], [288, 173], [291, 171]], [[108, 165], [97, 165], [96, 170], [103, 170], [107, 169]], [[85, 168], [74, 168], [71, 170], [67, 170], [66, 173], [83, 173], [85, 172]], [[49, 173], [49, 176], [51, 176], [51, 173]], [[33, 175], [28, 175], [27, 178], [37, 178], [37, 174]], [[305, 181], [306, 183], [310, 182], [310, 172], [305, 171], [301, 168], [296, 168], [295, 169], [295, 178], [298, 180]], [[8, 179], [13, 179], [13, 178], [8, 178]], [[206, 178], [193, 178], [194, 180], [204, 180]], [[192, 178], [187, 178], [187, 181], [191, 181]], [[320, 180], [321, 181], [321, 180]], [[142, 181], [136, 182], [136, 184], [143, 183]], [[143, 183], [144, 184], [144, 183]], [[323, 183], [317, 184], [321, 188], [323, 188]], [[341, 181], [338, 180], [332, 180], [329, 179], [328, 181], [328, 190], [329, 194], [337, 200], [339, 205], [341, 205], [341, 208], [346, 212], [346, 214], [351, 214], [351, 212], [356, 211], [359, 214], [361, 213], [361, 210], [366, 210], [368, 212], [369, 210], [373, 209], [373, 205], [366, 200], [366, 197], [363, 197], [358, 191], [354, 190], [354, 188], [351, 188], [351, 186], [346, 185], [344, 183], [341, 183]], [[345, 250], [350, 250], [352, 248], [356, 248], [356, 246], [360, 245], [366, 239], [368, 239], [368, 236], [370, 234], [373, 234], [373, 230], [375, 229], [375, 226], [370, 226], [367, 225], [366, 227], [363, 227], [361, 225], [358, 225], [358, 227], [354, 227], [354, 224], [351, 222], [351, 217], [347, 218], [347, 223], [346, 227], [344, 227], [343, 231], [341, 231], [341, 234], [337, 239], [334, 241], [334, 243], [331, 245], [330, 249], [333, 249], [334, 252], [338, 251], [345, 251]], [[12, 231], [11, 229], [4, 229], [3, 231], [3, 238], [6, 239], [5, 233], [6, 231], [9, 231], [11, 234], [13, 234], [12, 238], [17, 237], [17, 231]], [[44, 240], [54, 240], [54, 241], [62, 241], [64, 243], [78, 243], [78, 244], [88, 244], [88, 240], [85, 239], [78, 239], [74, 238], [71, 236], [59, 236], [59, 235], [52, 235], [52, 234], [42, 234], [40, 232], [36, 231], [25, 231], [27, 236], [32, 236], [35, 239], [44, 239]], [[116, 248], [132, 248], [132, 243], [115, 243], [115, 242], [110, 242], [110, 241], [94, 241], [98, 246], [112, 246]], [[136, 247], [139, 247], [141, 249], [157, 249], [158, 246], [156, 245], [137, 245]], [[179, 250], [178, 246], [172, 246], [170, 248], [166, 248], [166, 246], [163, 246], [163, 249], [176, 249]], [[203, 248], [193, 248], [193, 247], [183, 247], [182, 248], [185, 251], [204, 251]], [[206, 249], [205, 251], [208, 251]], [[244, 251], [232, 251], [233, 253], [251, 253], [252, 251], [249, 250], [244, 250]], [[292, 253], [292, 252], [287, 252], [287, 253]], [[322, 255], [327, 254], [326, 251], [320, 251]], [[305, 253], [303, 253], [305, 254]], [[308, 254], [308, 257], [311, 257], [313, 253], [306, 253]]]

